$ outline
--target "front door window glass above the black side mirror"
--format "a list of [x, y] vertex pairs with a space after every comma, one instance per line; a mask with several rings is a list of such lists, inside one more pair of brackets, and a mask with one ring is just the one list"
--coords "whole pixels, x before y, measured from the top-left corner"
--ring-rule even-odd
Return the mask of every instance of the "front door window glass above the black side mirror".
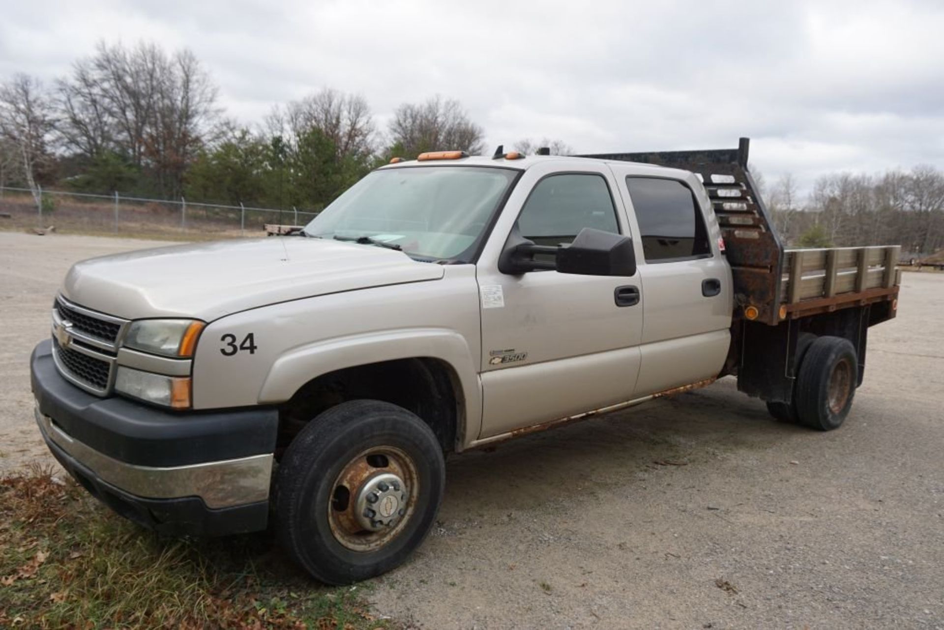
[[606, 179], [594, 173], [551, 175], [534, 186], [517, 220], [535, 245], [571, 243], [584, 228], [620, 233]]

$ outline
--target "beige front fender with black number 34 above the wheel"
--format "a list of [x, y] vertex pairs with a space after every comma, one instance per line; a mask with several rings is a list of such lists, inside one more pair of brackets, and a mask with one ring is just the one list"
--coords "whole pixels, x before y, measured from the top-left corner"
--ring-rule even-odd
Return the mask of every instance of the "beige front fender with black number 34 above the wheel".
[[[194, 352], [194, 409], [290, 400], [337, 369], [429, 357], [455, 373], [463, 441], [481, 424], [479, 289], [475, 266], [443, 280], [295, 299], [212, 321]], [[251, 336], [250, 336], [251, 335]]]

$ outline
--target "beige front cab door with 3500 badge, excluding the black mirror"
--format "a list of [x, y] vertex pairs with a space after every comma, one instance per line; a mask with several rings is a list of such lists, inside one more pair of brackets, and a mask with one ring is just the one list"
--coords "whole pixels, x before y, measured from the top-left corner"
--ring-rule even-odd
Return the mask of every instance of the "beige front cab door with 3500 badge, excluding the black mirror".
[[[566, 172], [561, 172], [566, 163]], [[557, 271], [502, 274], [514, 224], [537, 245], [570, 243], [583, 228], [629, 233], [605, 166], [532, 166], [515, 188], [477, 267], [481, 306], [480, 437], [628, 400], [639, 369], [642, 303], [632, 277]], [[514, 208], [520, 208], [520, 212]], [[635, 295], [635, 298], [632, 298]]]

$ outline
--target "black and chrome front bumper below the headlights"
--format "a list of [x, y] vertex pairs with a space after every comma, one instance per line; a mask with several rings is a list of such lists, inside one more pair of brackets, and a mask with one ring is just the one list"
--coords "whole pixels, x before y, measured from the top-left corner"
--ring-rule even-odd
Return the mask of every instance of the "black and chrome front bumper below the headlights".
[[169, 534], [264, 529], [275, 409], [171, 413], [68, 383], [50, 342], [31, 358], [36, 421], [59, 462], [122, 516]]

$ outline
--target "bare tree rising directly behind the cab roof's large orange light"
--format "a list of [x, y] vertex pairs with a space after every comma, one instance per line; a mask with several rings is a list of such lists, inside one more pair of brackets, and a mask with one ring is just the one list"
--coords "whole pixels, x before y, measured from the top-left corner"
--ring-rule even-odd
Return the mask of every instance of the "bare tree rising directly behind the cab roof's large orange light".
[[484, 131], [473, 123], [456, 100], [433, 96], [422, 104], [404, 103], [390, 122], [390, 140], [404, 156], [424, 151], [457, 149], [478, 155]]

